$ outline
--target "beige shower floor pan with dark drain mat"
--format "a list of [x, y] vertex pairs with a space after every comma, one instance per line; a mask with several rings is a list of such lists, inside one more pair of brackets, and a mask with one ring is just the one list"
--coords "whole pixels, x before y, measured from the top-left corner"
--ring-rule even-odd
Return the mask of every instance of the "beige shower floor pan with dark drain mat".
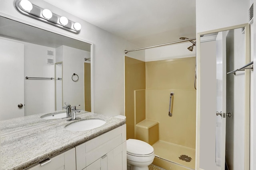
[[195, 169], [195, 149], [182, 147], [165, 141], [157, 141], [152, 145], [152, 147], [154, 148], [156, 157], [159, 156], [160, 159], [172, 162], [176, 165], [184, 166], [184, 168], [186, 167], [187, 169]]

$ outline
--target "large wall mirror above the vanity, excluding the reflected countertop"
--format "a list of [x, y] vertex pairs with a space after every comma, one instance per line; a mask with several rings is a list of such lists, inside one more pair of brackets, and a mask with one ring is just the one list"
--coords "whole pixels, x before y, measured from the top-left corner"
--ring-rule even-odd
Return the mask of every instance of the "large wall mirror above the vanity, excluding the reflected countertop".
[[91, 111], [91, 44], [0, 17], [0, 120]]

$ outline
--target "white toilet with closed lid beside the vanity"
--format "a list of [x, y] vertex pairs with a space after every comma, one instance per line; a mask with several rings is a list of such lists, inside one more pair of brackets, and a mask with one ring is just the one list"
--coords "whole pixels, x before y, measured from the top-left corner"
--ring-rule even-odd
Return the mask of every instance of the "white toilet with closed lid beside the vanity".
[[[120, 119], [126, 119], [123, 115], [115, 116]], [[127, 147], [127, 170], [148, 170], [152, 164], [155, 154], [154, 148], [144, 141], [137, 139], [128, 139]]]

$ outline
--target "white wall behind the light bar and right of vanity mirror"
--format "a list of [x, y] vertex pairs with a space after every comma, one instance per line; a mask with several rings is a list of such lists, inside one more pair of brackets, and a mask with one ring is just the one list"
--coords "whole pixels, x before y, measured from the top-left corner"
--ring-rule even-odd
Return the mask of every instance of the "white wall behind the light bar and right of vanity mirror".
[[[80, 22], [82, 25], [80, 33], [76, 35], [24, 16], [14, 7], [14, 0], [1, 1], [0, 15], [81, 41], [92, 42], [94, 44], [94, 112], [104, 115], [124, 115], [124, 50], [138, 47], [42, 0], [31, 0], [31, 2]], [[128, 53], [126, 56], [145, 60], [144, 51]]]

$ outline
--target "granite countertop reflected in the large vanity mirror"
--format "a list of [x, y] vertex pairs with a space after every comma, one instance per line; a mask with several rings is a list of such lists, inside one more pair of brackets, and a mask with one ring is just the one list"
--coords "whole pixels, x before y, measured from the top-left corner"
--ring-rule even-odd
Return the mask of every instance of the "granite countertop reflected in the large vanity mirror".
[[[6, 133], [13, 133], [13, 132], [21, 131], [24, 129], [34, 128], [36, 126], [45, 125], [46, 123], [49, 124], [49, 123], [56, 123], [57, 121], [62, 121], [62, 119], [65, 119], [65, 118], [41, 119], [40, 117], [46, 114], [64, 113], [64, 112], [66, 113], [66, 110], [58, 110], [58, 111], [52, 111], [48, 113], [40, 113], [35, 115], [17, 117], [17, 118], [8, 119], [8, 120], [2, 120], [0, 121], [0, 135], [6, 134]], [[79, 116], [85, 113], [90, 113], [90, 112], [81, 110], [79, 113], [76, 113], [76, 114]]]

